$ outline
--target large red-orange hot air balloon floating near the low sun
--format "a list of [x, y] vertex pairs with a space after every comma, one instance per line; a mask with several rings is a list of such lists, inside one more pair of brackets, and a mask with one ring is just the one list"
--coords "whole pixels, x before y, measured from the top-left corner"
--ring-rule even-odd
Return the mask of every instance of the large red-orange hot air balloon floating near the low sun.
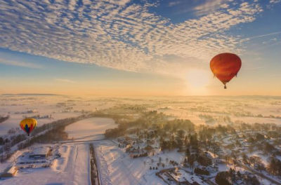
[[218, 78], [226, 89], [228, 83], [234, 76], [237, 76], [241, 68], [241, 59], [233, 53], [221, 53], [211, 59], [210, 67], [214, 76]]

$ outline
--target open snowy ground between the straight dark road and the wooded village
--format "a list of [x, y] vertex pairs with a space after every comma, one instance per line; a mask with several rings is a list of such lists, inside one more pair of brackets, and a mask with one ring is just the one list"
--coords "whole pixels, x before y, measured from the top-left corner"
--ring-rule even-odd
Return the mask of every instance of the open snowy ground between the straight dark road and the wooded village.
[[[169, 166], [166, 158], [181, 163], [184, 156], [183, 153], [171, 151], [160, 153], [157, 156], [131, 158], [128, 153], [125, 153], [124, 149], [120, 149], [111, 140], [94, 142], [94, 146], [103, 185], [165, 184], [162, 179], [156, 176], [155, 172], [173, 167]], [[162, 158], [162, 163], [166, 163], [166, 166], [164, 168], [159, 166], [158, 170], [150, 170], [150, 167], [157, 167], [159, 157]]]

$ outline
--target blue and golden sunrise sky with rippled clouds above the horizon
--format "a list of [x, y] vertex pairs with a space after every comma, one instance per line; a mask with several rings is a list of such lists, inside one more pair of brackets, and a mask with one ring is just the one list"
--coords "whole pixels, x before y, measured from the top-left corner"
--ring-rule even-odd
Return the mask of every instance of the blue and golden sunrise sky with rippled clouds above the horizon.
[[280, 58], [281, 0], [0, 0], [0, 93], [281, 95]]

